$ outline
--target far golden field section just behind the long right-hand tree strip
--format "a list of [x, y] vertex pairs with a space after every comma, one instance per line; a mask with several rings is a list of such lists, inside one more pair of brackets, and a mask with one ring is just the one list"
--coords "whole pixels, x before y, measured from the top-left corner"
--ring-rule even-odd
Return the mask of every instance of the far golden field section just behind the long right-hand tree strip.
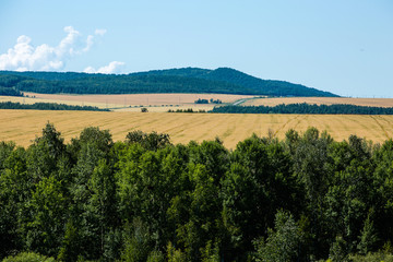
[[393, 98], [352, 98], [352, 97], [276, 97], [248, 99], [242, 106], [276, 106], [279, 104], [349, 104], [369, 107], [393, 107]]

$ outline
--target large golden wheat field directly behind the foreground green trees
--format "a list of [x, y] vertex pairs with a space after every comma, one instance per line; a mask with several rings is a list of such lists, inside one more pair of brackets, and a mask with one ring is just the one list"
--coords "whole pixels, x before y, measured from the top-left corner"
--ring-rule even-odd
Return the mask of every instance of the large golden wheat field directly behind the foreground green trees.
[[393, 116], [0, 110], [0, 141], [27, 146], [40, 135], [47, 121], [55, 123], [67, 142], [85, 127], [99, 127], [110, 130], [116, 141], [124, 140], [132, 130], [142, 130], [168, 133], [174, 143], [202, 142], [218, 136], [228, 148], [235, 148], [252, 133], [265, 136], [273, 132], [282, 139], [288, 129], [301, 132], [309, 127], [326, 130], [338, 141], [357, 134], [383, 142], [393, 134]]

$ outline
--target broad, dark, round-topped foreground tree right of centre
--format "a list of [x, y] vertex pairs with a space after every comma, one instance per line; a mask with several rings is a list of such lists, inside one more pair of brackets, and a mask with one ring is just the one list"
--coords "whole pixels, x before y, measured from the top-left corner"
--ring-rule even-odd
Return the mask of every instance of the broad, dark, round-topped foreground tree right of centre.
[[296, 206], [289, 164], [277, 141], [253, 135], [237, 145], [223, 181], [223, 212], [237, 252], [245, 254], [252, 240], [265, 236], [278, 209]]

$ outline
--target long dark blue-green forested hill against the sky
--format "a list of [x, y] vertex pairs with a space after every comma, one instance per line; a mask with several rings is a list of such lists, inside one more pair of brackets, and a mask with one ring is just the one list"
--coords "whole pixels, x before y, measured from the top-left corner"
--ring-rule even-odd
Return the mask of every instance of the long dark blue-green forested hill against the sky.
[[0, 86], [45, 94], [216, 93], [337, 96], [285, 81], [261, 80], [229, 68], [183, 68], [131, 74], [0, 71]]

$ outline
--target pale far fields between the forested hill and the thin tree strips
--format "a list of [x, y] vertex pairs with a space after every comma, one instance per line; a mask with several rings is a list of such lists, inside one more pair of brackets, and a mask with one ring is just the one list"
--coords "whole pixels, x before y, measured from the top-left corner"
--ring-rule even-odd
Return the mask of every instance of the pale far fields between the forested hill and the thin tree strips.
[[131, 94], [131, 95], [64, 95], [25, 93], [28, 97], [0, 96], [1, 102], [22, 104], [59, 103], [73, 106], [96, 106], [112, 111], [141, 111], [146, 107], [151, 112], [164, 112], [169, 109], [211, 110], [214, 104], [194, 104], [201, 99], [221, 99], [223, 105], [234, 104], [240, 99], [242, 106], [276, 106], [279, 104], [308, 103], [317, 105], [350, 104], [358, 106], [393, 107], [393, 98], [349, 98], [349, 97], [277, 97], [257, 98], [247, 95], [225, 94]]

